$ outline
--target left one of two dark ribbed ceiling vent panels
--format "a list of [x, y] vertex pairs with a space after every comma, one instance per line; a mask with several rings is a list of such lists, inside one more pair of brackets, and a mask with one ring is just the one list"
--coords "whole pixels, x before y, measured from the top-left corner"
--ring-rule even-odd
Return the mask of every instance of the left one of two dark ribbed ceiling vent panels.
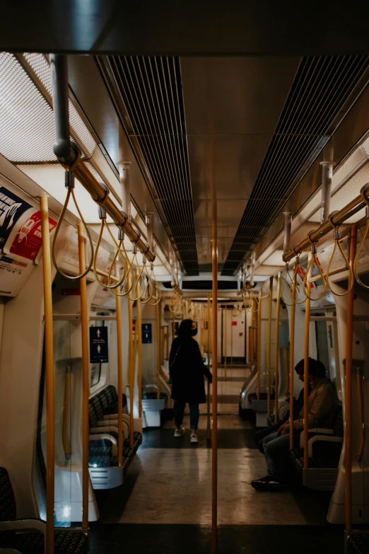
[[121, 97], [117, 110], [183, 268], [187, 275], [199, 275], [180, 60], [115, 56], [104, 62], [105, 79]]

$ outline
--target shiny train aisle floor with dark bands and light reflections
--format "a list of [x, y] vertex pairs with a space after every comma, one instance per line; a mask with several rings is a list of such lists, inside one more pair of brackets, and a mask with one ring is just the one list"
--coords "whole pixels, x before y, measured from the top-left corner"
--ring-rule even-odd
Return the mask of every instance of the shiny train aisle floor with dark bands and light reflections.
[[[250, 481], [266, 473], [254, 429], [237, 415], [247, 368], [219, 369], [218, 552], [344, 552], [344, 531], [326, 522], [329, 496], [305, 489], [262, 493]], [[237, 378], [238, 380], [235, 380]], [[211, 448], [206, 405], [199, 444], [173, 423], [146, 429], [122, 487], [96, 491], [100, 520], [91, 525], [91, 554], [208, 554], [211, 540]]]

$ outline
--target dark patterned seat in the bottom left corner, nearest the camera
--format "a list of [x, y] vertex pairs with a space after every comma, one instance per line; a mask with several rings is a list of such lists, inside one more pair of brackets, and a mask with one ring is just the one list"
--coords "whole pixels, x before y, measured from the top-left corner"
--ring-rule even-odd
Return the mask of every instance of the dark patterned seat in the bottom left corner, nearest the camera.
[[[0, 467], [0, 551], [13, 548], [22, 554], [44, 554], [46, 524], [41, 519], [16, 519], [16, 500], [11, 480]], [[85, 554], [88, 536], [83, 531], [55, 529], [55, 554]]]

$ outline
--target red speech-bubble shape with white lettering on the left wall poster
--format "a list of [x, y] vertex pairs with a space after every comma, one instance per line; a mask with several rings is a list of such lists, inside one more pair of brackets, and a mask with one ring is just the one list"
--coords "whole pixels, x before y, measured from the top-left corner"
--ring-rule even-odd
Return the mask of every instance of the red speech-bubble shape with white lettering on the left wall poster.
[[[57, 226], [57, 222], [49, 218], [50, 232]], [[12, 254], [35, 260], [42, 245], [41, 214], [35, 212], [21, 226], [10, 248]]]

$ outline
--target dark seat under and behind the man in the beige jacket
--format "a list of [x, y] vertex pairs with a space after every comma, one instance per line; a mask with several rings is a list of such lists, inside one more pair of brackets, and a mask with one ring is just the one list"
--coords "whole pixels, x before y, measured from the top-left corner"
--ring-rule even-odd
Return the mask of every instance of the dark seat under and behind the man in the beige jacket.
[[341, 403], [336, 405], [333, 429], [309, 429], [308, 439], [308, 469], [303, 468], [303, 432], [300, 434], [300, 447], [290, 451], [296, 470], [303, 475], [303, 485], [314, 490], [334, 490], [344, 441]]

